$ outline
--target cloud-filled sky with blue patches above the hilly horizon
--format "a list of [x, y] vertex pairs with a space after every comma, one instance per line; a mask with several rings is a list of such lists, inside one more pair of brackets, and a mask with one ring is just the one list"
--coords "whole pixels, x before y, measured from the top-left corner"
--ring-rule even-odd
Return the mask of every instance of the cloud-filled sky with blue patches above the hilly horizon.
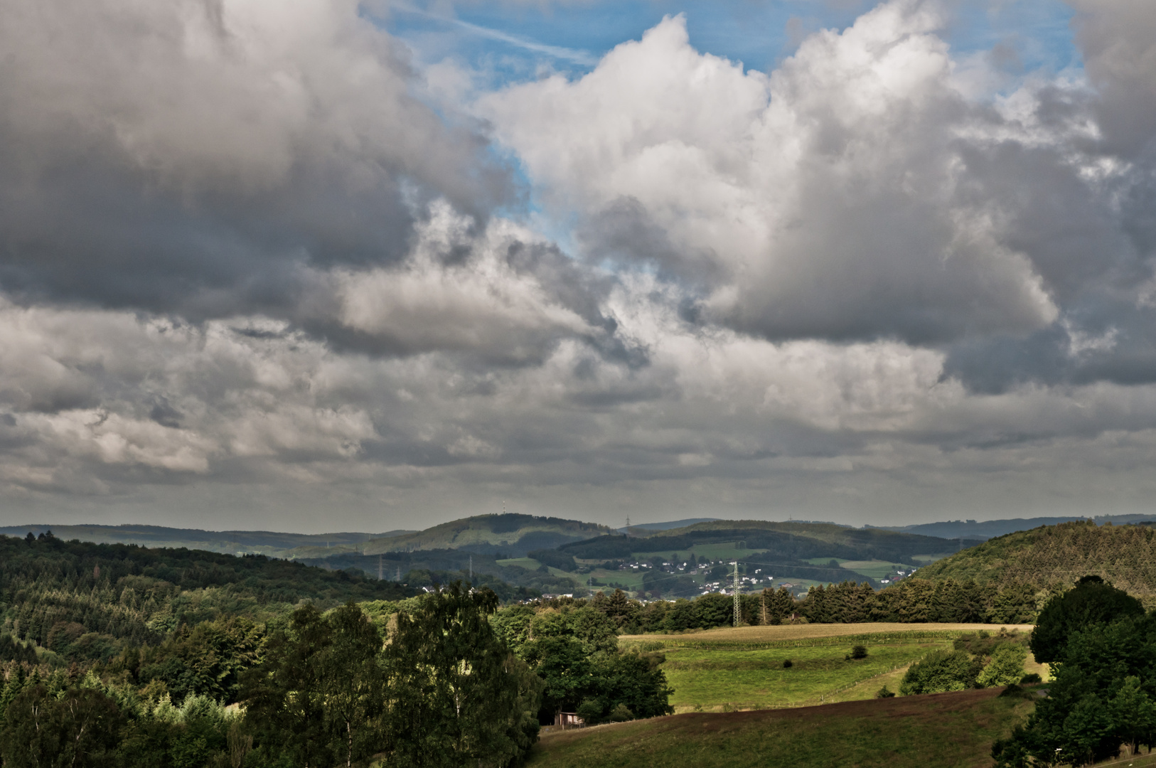
[[0, 519], [1151, 512], [1150, 0], [13, 0]]

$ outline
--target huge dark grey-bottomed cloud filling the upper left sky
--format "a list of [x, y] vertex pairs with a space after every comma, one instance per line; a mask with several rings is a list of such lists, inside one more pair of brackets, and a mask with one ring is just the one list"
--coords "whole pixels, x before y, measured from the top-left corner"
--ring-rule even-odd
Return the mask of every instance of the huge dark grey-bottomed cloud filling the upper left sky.
[[509, 199], [351, 0], [20, 0], [0, 47], [0, 280], [30, 297], [284, 315], [295, 266], [388, 264], [424, 201]]

